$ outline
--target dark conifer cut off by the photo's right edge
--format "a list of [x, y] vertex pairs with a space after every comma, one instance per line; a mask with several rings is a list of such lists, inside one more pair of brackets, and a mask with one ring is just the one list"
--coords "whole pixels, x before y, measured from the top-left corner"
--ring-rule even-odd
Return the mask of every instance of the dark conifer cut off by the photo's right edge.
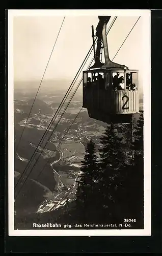
[[134, 124], [133, 130], [133, 162], [124, 169], [123, 189], [118, 194], [118, 200], [123, 205], [123, 216], [138, 219], [139, 225], [143, 222], [144, 203], [143, 124], [143, 111], [140, 111], [140, 119]]

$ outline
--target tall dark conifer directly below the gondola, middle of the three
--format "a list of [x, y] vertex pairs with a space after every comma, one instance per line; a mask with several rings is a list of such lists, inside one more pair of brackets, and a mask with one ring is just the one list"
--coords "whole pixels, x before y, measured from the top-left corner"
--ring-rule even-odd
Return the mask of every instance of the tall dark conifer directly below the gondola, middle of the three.
[[[107, 126], [104, 135], [100, 139], [102, 148], [99, 149], [100, 155], [100, 188], [101, 200], [103, 205], [105, 218], [120, 214], [120, 202], [118, 202], [117, 194], [120, 193], [122, 181], [122, 169], [124, 166], [123, 143], [119, 138], [113, 124]], [[118, 206], [118, 210], [117, 209]]]

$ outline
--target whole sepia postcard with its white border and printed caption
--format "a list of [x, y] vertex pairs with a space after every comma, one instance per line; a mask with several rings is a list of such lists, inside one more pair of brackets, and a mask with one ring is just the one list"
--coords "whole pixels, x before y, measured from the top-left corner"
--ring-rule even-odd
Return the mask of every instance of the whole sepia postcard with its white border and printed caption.
[[8, 10], [9, 236], [151, 236], [149, 10]]

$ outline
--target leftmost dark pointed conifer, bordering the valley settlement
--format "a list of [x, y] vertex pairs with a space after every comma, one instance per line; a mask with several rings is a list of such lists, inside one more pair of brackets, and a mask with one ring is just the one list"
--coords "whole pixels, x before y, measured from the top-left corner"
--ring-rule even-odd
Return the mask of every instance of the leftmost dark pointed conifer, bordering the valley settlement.
[[97, 157], [95, 144], [92, 140], [87, 143], [86, 154], [82, 161], [82, 175], [76, 191], [76, 209], [80, 221], [92, 220], [92, 214], [96, 207], [96, 190], [98, 182]]

